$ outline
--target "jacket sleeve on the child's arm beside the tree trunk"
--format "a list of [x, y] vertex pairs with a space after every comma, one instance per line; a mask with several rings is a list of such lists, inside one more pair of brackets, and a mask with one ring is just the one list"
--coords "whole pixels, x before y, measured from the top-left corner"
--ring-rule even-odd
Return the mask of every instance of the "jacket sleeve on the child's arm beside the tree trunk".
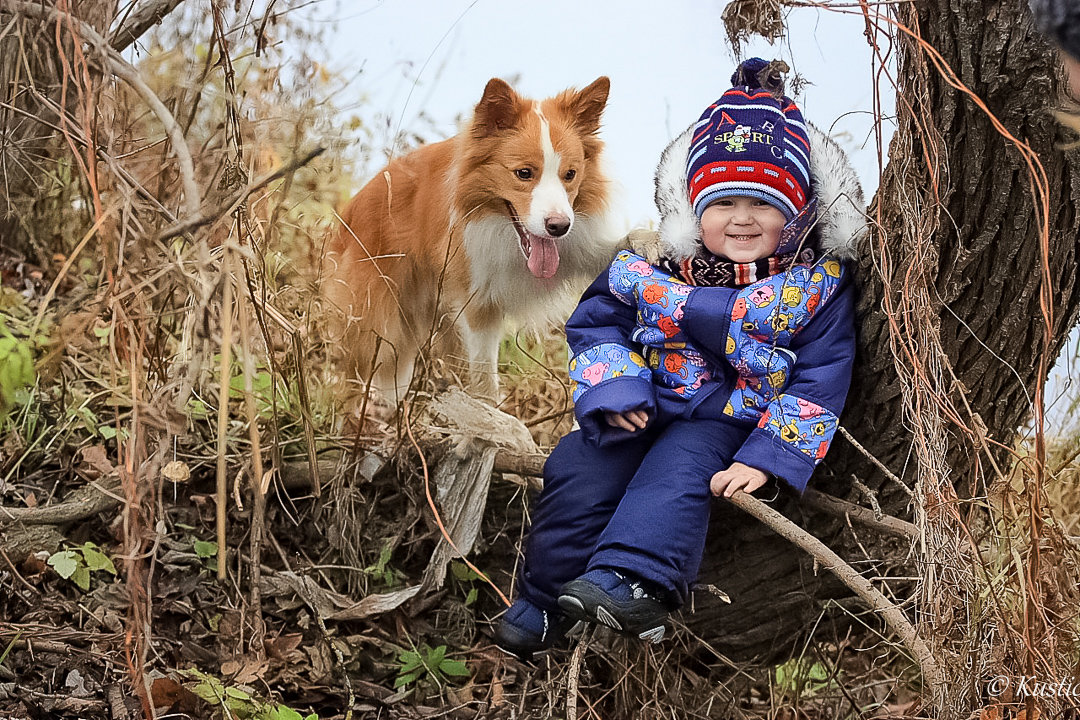
[[828, 450], [851, 384], [854, 288], [848, 273], [788, 349], [796, 356], [788, 382], [734, 460], [775, 475], [801, 494]]

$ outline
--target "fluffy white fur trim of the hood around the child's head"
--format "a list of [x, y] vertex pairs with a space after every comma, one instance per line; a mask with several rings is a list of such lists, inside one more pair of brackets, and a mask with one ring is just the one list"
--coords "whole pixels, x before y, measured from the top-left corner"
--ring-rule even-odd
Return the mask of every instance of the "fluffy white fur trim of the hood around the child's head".
[[[806, 125], [810, 138], [810, 185], [818, 199], [819, 218], [814, 228], [818, 245], [828, 255], [852, 259], [859, 239], [866, 232], [863, 189], [840, 146], [813, 123]], [[657, 168], [661, 253], [676, 260], [693, 256], [701, 244], [701, 227], [690, 205], [686, 182], [692, 135], [690, 126], [675, 138], [660, 157]]]

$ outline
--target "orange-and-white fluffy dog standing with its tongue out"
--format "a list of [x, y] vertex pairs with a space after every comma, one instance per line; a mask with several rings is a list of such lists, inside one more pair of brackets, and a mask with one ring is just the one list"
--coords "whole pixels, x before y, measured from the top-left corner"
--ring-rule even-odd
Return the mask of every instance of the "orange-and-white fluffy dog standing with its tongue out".
[[463, 355], [473, 394], [495, 399], [507, 329], [565, 321], [615, 255], [598, 137], [609, 86], [537, 101], [492, 79], [458, 135], [356, 193], [323, 273], [350, 376], [396, 402], [418, 361]]

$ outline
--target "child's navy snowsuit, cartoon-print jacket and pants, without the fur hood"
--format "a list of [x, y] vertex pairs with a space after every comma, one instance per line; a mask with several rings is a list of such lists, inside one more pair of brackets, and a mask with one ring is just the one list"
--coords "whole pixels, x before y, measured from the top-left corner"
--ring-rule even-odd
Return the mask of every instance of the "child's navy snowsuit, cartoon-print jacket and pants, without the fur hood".
[[[680, 606], [704, 552], [713, 474], [741, 462], [805, 490], [851, 379], [842, 255], [729, 288], [689, 286], [619, 254], [566, 325], [580, 430], [544, 466], [522, 596], [553, 609], [564, 583], [611, 568]], [[631, 410], [648, 415], [645, 430], [605, 421]]]

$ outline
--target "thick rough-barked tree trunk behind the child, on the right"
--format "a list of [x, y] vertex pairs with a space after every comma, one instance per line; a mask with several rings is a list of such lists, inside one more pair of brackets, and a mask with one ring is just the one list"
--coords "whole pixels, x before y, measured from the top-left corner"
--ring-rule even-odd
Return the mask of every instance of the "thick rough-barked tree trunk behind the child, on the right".
[[[1080, 164], [1075, 152], [1066, 154], [1056, 147], [1063, 138], [1049, 112], [1062, 86], [1057, 59], [1034, 31], [1026, 3], [1015, 0], [918, 0], [901, 19], [921, 29], [960, 80], [1010, 133], [1038, 153], [1045, 167], [1055, 318], [1049, 350], [1054, 357], [1080, 304], [1076, 284]], [[961, 408], [963, 425], [973, 429], [967, 432], [949, 422], [939, 407], [922, 408], [939, 419], [944, 464], [937, 472], [961, 494], [971, 488], [984, 492], [988, 463], [977, 447], [980, 418], [987, 437], [1009, 446], [1031, 415], [1034, 389], [1041, 379], [1039, 352], [1045, 340], [1039, 305], [1038, 218], [1016, 149], [1007, 145], [969, 97], [948, 86], [932, 65], [928, 67], [915, 43], [902, 39], [899, 46], [900, 125], [892, 160], [869, 210], [872, 218], [880, 217], [881, 230], [863, 243], [855, 268], [861, 291], [859, 359], [842, 424], [907, 486], [920, 475], [926, 479], [929, 468], [919, 461], [918, 448], [913, 448], [917, 438], [912, 413], [905, 411], [905, 397], [913, 396], [913, 383], [919, 380], [913, 380], [909, 347], [897, 338], [930, 332], [943, 355], [940, 372], [923, 380], [930, 394], [922, 397], [936, 393], [950, 400]], [[905, 103], [915, 106], [914, 113], [905, 112]], [[929, 117], [920, 113], [920, 107], [931, 109]], [[941, 140], [940, 168], [928, 169], [926, 157], [931, 157], [933, 167], [934, 148], [920, 135], [918, 123], [928, 124]], [[933, 180], [940, 182], [940, 210], [932, 207]], [[921, 214], [913, 213], [913, 207]], [[927, 247], [913, 241], [918, 234], [912, 227], [916, 220], [932, 223], [930, 254], [936, 257], [927, 258]], [[886, 308], [902, 307], [919, 294], [928, 312], [905, 316], [894, 310], [890, 318]], [[838, 436], [813, 483], [866, 504], [852, 476], [876, 493], [886, 513], [912, 516], [909, 494]], [[841, 555], [865, 559], [842, 524], [804, 513], [797, 505], [788, 515]], [[798, 549], [739, 517], [733, 508], [715, 513], [713, 526], [701, 581], [718, 585], [732, 603], [699, 593], [688, 622], [729, 657], [783, 655], [813, 628], [827, 600], [850, 595], [831, 578], [815, 574]], [[869, 540], [865, 532], [859, 539], [864, 544]], [[889, 547], [869, 545], [872, 555], [886, 560]], [[907, 552], [891, 547], [893, 558]]]

